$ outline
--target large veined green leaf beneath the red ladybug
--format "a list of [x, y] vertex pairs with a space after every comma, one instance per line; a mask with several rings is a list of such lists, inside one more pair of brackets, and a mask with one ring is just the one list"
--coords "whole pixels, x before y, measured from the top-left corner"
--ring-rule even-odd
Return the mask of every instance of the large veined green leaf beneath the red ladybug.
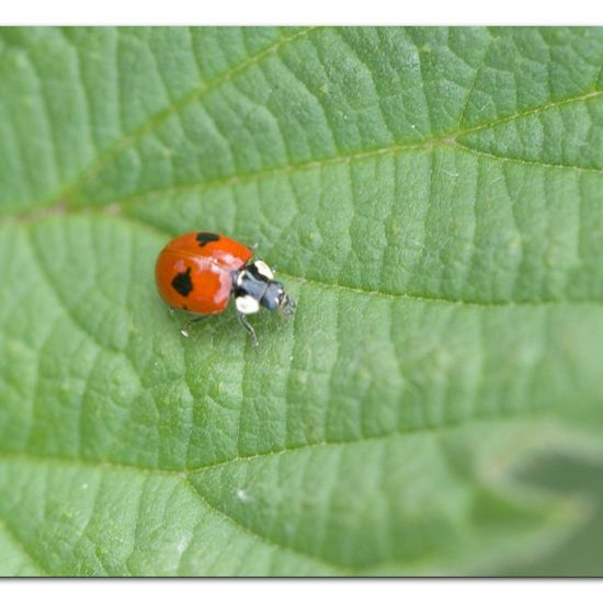
[[[0, 30], [0, 573], [562, 549], [593, 500], [520, 475], [603, 463], [602, 66], [600, 29]], [[297, 299], [259, 352], [158, 297], [197, 228]]]

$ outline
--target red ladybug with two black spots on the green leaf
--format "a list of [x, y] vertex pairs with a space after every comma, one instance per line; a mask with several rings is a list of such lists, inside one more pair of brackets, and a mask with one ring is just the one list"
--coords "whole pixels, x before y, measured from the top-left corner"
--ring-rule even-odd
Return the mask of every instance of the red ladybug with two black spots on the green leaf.
[[[274, 272], [253, 259], [253, 250], [234, 239], [215, 232], [186, 232], [172, 239], [159, 253], [155, 266], [157, 288], [171, 307], [185, 310], [195, 322], [226, 310], [235, 299], [237, 318], [251, 335], [258, 338], [247, 316], [263, 306], [292, 315], [295, 300], [285, 293]], [[182, 334], [187, 335], [186, 326]]]

